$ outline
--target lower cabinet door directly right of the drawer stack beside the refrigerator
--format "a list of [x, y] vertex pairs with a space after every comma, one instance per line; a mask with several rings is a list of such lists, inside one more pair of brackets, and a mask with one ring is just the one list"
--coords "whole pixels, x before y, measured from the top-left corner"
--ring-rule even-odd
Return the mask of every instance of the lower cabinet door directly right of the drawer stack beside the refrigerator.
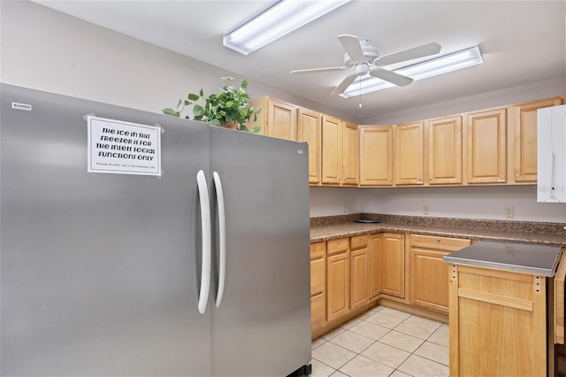
[[343, 252], [326, 258], [326, 318], [338, 319], [350, 311], [349, 253]]

